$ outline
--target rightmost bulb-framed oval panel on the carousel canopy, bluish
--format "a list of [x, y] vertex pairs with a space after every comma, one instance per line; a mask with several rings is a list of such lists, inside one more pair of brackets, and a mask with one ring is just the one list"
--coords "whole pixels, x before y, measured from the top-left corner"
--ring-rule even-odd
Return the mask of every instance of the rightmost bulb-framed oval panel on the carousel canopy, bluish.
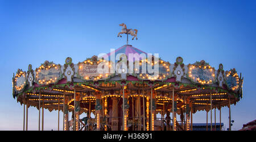
[[236, 69], [230, 69], [226, 71], [225, 83], [229, 89], [236, 91], [239, 87], [239, 77]]

